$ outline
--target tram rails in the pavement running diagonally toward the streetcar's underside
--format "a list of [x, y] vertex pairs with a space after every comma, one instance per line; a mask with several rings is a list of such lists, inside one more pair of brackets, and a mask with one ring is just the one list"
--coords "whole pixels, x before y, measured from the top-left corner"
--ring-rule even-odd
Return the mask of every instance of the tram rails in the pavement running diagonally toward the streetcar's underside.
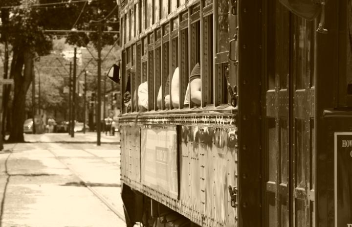
[[[54, 145], [54, 144], [52, 144]], [[55, 144], [56, 145], [56, 144]], [[54, 146], [55, 146], [54, 145]], [[62, 158], [60, 158], [59, 156], [57, 156], [52, 150], [48, 149], [48, 151], [57, 159], [59, 160], [62, 164], [64, 164], [66, 166], [67, 169], [69, 169], [77, 178], [80, 179], [80, 181], [84, 182], [85, 187], [87, 187], [96, 198], [98, 198], [103, 204], [105, 204], [117, 217], [119, 217], [121, 220], [123, 220], [125, 222], [125, 215], [123, 213], [121, 213], [119, 210], [117, 210], [98, 190], [96, 190], [94, 188], [94, 186], [90, 186], [91, 183], [85, 179], [85, 177], [83, 177], [81, 174], [79, 174], [74, 168], [72, 168], [70, 165], [68, 165], [65, 160], [63, 160]], [[85, 151], [85, 150], [82, 150]], [[88, 154], [91, 154], [88, 151], [85, 151]], [[93, 154], [91, 154], [93, 155]], [[95, 155], [93, 155], [95, 156]], [[95, 156], [96, 158], [100, 158], [98, 156]], [[102, 158], [100, 158], [102, 159]], [[106, 160], [105, 160], [106, 161]], [[106, 161], [108, 162], [108, 161]], [[110, 162], [109, 162], [110, 163]], [[111, 163], [110, 163], [111, 164]]]

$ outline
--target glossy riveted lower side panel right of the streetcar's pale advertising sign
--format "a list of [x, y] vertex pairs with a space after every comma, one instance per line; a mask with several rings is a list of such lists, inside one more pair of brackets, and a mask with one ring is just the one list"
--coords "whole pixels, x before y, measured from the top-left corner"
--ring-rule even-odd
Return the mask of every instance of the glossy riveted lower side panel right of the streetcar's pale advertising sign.
[[231, 206], [227, 190], [229, 185], [237, 187], [236, 131], [181, 128], [180, 199], [190, 212], [200, 212], [194, 219], [204, 226], [237, 226], [237, 208]]

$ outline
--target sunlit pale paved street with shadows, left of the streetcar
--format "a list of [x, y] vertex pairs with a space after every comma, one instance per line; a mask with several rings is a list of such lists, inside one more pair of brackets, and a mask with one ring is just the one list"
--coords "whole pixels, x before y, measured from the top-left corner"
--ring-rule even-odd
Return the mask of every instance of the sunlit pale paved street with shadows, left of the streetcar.
[[0, 227], [124, 227], [119, 137], [26, 135], [0, 152]]

